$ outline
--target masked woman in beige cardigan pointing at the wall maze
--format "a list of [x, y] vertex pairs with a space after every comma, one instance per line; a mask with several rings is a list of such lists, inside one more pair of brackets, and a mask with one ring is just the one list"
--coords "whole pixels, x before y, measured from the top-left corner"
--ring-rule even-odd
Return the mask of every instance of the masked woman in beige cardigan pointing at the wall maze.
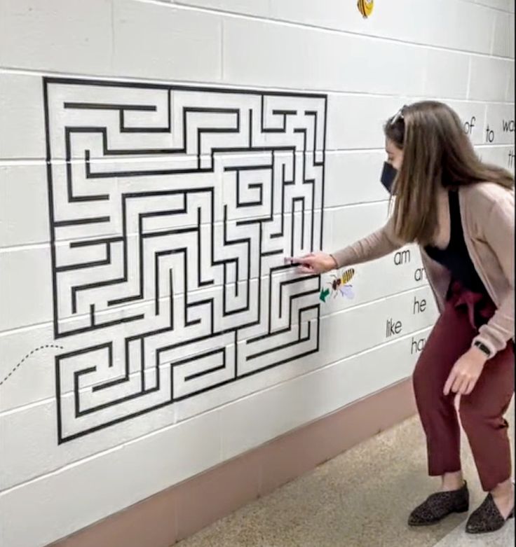
[[459, 415], [489, 492], [467, 532], [500, 529], [514, 514], [508, 424], [514, 392], [514, 178], [477, 158], [461, 120], [439, 102], [404, 106], [385, 126], [381, 182], [395, 195], [386, 226], [333, 254], [293, 258], [303, 273], [380, 258], [409, 242], [421, 248], [437, 320], [414, 371], [430, 476], [442, 485], [412, 511], [429, 525], [469, 509], [460, 461]]

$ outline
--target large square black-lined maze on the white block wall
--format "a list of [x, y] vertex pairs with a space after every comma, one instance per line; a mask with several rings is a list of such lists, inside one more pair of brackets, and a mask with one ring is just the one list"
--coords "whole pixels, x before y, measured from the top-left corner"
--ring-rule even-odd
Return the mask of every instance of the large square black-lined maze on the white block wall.
[[43, 78], [43, 99], [53, 324], [77, 348], [59, 443], [318, 352], [320, 277], [276, 263], [322, 244], [325, 95]]

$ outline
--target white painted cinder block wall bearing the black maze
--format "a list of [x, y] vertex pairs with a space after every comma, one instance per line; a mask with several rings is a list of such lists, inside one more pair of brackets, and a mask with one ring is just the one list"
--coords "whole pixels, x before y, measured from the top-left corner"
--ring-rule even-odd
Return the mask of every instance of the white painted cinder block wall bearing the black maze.
[[0, 0], [2, 547], [410, 375], [416, 249], [324, 304], [282, 258], [385, 221], [381, 125], [414, 99], [514, 168], [514, 3], [375, 4]]

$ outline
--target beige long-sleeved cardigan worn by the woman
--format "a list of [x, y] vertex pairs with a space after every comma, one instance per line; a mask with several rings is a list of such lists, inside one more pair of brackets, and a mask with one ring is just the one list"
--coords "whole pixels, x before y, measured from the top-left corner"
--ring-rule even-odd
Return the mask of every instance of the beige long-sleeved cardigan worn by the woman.
[[[475, 340], [482, 341], [493, 354], [514, 340], [514, 189], [484, 182], [459, 188], [461, 219], [466, 246], [475, 268], [496, 312], [480, 327]], [[438, 198], [438, 230], [435, 245], [444, 249], [450, 237], [448, 193], [443, 189]], [[360, 264], [386, 256], [405, 244], [393, 232], [393, 219], [386, 226], [332, 254], [337, 266]], [[450, 283], [447, 268], [433, 261], [420, 247], [426, 277], [433, 290], [437, 307], [442, 312]], [[473, 340], [473, 342], [475, 342]]]

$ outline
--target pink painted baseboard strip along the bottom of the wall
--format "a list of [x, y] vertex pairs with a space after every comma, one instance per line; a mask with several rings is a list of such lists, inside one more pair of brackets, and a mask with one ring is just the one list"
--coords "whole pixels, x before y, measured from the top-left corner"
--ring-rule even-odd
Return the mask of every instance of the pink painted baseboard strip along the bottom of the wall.
[[414, 413], [404, 380], [48, 547], [170, 547]]

